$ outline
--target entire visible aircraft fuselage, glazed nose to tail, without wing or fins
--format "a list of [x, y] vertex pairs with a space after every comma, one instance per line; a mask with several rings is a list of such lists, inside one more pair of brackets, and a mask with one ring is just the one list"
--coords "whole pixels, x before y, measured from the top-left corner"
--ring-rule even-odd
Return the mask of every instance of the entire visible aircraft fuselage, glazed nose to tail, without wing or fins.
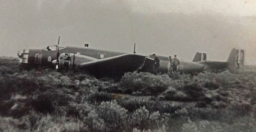
[[[46, 48], [42, 49], [25, 49], [20, 50], [18, 56], [20, 57], [20, 66], [53, 66], [52, 61], [57, 59], [57, 45], [51, 46], [52, 50], [47, 50]], [[107, 51], [107, 50], [97, 50], [97, 49], [89, 49], [82, 47], [71, 47], [71, 46], [60, 46], [59, 50], [61, 53], [74, 53], [79, 55], [84, 55], [96, 59], [115, 57], [118, 55], [126, 54], [124, 52], [115, 52], [115, 51]], [[170, 68], [170, 61], [168, 57], [159, 56], [160, 66], [158, 71], [161, 73], [168, 72]], [[209, 68], [210, 67], [210, 68]], [[211, 69], [213, 68], [213, 69]], [[202, 72], [204, 70], [214, 71], [214, 69], [222, 72], [226, 69], [226, 66], [221, 67], [212, 67], [206, 66], [203, 62], [187, 62], [180, 60], [180, 65], [177, 67], [177, 71], [184, 73], [191, 72]]]

